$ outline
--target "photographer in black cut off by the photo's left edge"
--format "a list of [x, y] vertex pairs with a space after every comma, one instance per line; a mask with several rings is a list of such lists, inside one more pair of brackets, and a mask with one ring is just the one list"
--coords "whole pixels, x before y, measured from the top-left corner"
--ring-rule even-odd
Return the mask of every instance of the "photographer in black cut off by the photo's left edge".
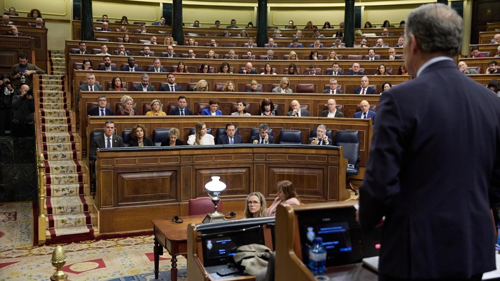
[[10, 76], [3, 74], [0, 78], [0, 136], [4, 136], [5, 130], [10, 130], [10, 123], [14, 115], [12, 97], [16, 94], [16, 91], [10, 81]]

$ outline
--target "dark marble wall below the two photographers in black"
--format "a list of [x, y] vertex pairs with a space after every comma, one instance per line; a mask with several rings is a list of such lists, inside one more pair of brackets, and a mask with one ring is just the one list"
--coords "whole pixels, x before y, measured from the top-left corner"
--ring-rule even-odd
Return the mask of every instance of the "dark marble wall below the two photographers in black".
[[0, 137], [0, 203], [36, 200], [35, 156], [33, 137]]

